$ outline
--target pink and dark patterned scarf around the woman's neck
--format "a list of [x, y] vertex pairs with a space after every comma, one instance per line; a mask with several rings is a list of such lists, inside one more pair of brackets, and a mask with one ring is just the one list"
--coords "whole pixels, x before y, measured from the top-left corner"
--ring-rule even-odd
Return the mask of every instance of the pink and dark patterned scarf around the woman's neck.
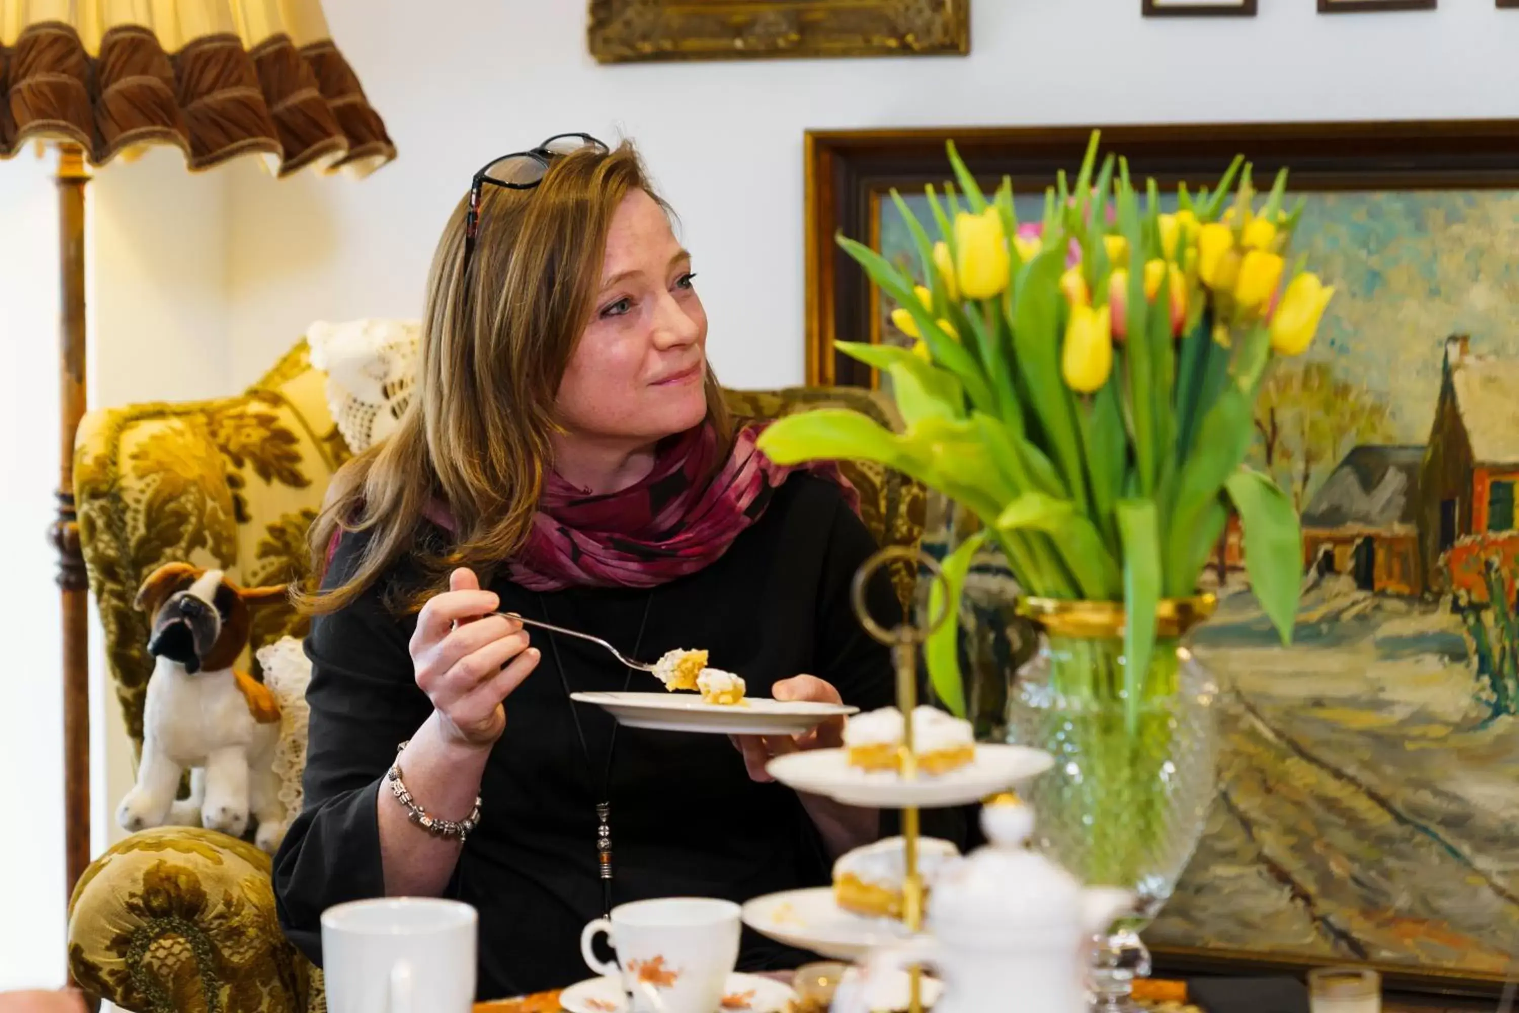
[[[507, 576], [529, 591], [653, 588], [685, 577], [726, 553], [794, 471], [838, 483], [858, 513], [860, 495], [837, 465], [782, 466], [760, 453], [755, 440], [766, 425], [743, 425], [720, 468], [711, 424], [671, 436], [644, 478], [609, 495], [591, 495], [550, 472]], [[428, 510], [428, 518], [453, 530], [447, 509]]]

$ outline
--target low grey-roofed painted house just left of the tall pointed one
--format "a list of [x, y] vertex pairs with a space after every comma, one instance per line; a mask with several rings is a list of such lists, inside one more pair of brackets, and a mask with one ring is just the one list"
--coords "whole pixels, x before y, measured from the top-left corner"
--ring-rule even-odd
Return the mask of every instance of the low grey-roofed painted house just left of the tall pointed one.
[[1367, 443], [1344, 456], [1303, 510], [1303, 556], [1358, 588], [1422, 594], [1419, 471], [1423, 447]]

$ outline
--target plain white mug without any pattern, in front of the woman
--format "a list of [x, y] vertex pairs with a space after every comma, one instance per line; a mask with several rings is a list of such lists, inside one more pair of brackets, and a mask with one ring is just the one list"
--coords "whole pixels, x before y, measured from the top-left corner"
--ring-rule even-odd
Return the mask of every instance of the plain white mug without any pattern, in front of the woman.
[[478, 916], [436, 898], [381, 898], [322, 913], [330, 1013], [471, 1013]]

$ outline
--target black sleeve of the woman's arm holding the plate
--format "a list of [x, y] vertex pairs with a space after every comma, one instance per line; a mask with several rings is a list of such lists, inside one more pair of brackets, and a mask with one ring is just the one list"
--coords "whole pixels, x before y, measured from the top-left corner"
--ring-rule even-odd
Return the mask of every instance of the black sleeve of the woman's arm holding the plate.
[[[852, 588], [855, 573], [880, 548], [875, 538], [843, 497], [834, 512], [832, 532], [823, 559], [823, 585], [819, 591], [819, 644], [817, 658], [826, 679], [838, 690], [845, 703], [873, 711], [896, 705], [896, 667], [892, 649], [876, 641], [860, 624], [854, 611]], [[866, 603], [870, 615], [886, 629], [902, 621], [902, 601], [896, 597], [890, 566], [881, 566], [866, 586]], [[917, 655], [917, 702], [930, 703], [928, 676], [922, 667], [922, 652]], [[965, 849], [977, 806], [952, 809], [925, 809], [922, 832], [940, 837]], [[901, 813], [881, 813], [881, 835], [901, 832]]]

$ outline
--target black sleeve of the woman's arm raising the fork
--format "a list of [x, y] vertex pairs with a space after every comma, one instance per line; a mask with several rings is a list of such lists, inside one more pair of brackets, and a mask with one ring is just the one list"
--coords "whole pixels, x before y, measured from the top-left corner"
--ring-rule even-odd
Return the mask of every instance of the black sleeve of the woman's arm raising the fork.
[[[346, 579], [363, 538], [348, 535], [325, 586]], [[415, 620], [395, 617], [377, 582], [349, 606], [311, 621], [305, 806], [273, 860], [275, 904], [286, 936], [322, 963], [322, 911], [384, 895], [377, 793], [395, 749], [433, 712], [416, 688], [407, 650]]]

